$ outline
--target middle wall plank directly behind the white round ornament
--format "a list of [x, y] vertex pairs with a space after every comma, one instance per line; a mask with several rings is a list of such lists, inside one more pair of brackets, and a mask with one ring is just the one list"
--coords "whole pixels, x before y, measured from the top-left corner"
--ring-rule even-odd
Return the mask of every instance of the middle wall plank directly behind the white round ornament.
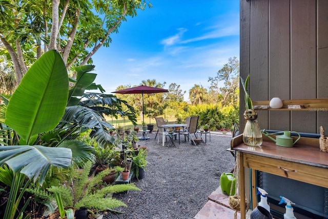
[[[269, 99], [290, 99], [290, 1], [269, 1]], [[283, 117], [283, 120], [281, 120]], [[271, 130], [290, 130], [289, 111], [270, 111]]]

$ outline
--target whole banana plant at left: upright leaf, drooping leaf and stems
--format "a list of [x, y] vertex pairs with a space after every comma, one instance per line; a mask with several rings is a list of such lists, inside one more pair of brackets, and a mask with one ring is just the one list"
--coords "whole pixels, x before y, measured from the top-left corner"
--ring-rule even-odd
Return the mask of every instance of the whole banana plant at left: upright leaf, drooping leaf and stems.
[[[59, 123], [67, 97], [65, 63], [57, 51], [50, 50], [32, 65], [10, 98], [5, 123], [19, 136], [19, 145], [0, 147], [0, 165], [6, 164], [13, 171], [4, 218], [15, 217], [32, 180], [42, 185], [51, 166], [70, 166], [71, 149], [33, 145], [39, 133], [50, 131]], [[24, 208], [26, 205], [20, 210]]]

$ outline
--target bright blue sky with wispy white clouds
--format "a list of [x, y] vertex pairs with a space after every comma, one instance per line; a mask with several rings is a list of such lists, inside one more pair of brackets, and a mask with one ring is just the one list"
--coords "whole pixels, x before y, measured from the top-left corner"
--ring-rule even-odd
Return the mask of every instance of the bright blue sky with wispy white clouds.
[[239, 0], [152, 0], [112, 33], [110, 47], [92, 56], [96, 83], [111, 93], [119, 85], [156, 79], [180, 85], [210, 86], [228, 63], [239, 59]]

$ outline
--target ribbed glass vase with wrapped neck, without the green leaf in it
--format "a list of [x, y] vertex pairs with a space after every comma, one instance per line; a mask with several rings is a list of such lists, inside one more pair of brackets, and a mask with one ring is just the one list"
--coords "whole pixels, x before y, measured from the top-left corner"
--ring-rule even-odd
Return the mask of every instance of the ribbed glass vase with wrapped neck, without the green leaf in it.
[[257, 113], [254, 110], [246, 110], [244, 117], [247, 120], [242, 136], [244, 144], [256, 147], [262, 144], [262, 133], [257, 123]]

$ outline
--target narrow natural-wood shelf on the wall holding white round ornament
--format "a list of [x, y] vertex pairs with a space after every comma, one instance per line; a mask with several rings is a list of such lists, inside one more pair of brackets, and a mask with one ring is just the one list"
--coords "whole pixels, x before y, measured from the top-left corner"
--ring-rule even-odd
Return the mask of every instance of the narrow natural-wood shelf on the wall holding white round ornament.
[[[253, 101], [253, 106], [269, 106], [270, 101]], [[318, 99], [288, 99], [282, 101], [282, 108], [280, 109], [257, 109], [256, 110], [290, 110], [290, 111], [328, 111], [328, 98]], [[302, 105], [301, 109], [289, 109], [289, 105]], [[255, 109], [255, 108], [254, 108]]]

